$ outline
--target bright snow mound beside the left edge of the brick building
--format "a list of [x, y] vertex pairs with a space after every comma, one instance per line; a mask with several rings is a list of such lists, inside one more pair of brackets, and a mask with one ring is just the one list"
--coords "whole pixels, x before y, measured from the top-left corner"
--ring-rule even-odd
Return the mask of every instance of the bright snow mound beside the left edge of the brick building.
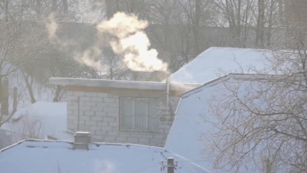
[[[66, 103], [36, 102], [17, 111], [11, 120], [4, 125], [4, 128], [15, 136], [18, 134], [33, 136], [33, 134], [29, 134], [33, 133], [31, 130], [34, 128], [31, 126], [36, 127], [36, 132], [34, 132], [36, 137], [46, 138], [49, 135], [72, 139], [69, 135], [64, 135], [64, 131], [67, 129]], [[24, 139], [24, 136], [15, 138], [19, 141]]]

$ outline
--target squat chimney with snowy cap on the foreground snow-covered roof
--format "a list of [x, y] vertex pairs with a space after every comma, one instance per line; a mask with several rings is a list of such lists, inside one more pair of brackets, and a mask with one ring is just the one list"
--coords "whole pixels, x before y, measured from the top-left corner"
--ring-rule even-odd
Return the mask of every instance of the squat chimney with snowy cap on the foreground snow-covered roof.
[[88, 150], [88, 144], [90, 143], [90, 133], [89, 132], [76, 132], [74, 135], [74, 150]]

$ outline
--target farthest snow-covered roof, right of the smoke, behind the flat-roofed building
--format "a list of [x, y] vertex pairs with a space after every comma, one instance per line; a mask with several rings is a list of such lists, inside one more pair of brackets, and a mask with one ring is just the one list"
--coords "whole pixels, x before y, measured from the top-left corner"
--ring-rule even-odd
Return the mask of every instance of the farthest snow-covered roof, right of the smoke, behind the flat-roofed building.
[[240, 48], [209, 48], [195, 59], [173, 73], [171, 82], [206, 83], [227, 73], [254, 73], [262, 70], [267, 58], [273, 53], [268, 50]]

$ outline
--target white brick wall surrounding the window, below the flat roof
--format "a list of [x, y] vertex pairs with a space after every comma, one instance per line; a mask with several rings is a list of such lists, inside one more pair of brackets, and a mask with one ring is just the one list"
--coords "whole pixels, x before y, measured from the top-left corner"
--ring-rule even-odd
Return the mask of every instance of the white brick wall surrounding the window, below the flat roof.
[[159, 133], [120, 131], [119, 96], [108, 93], [68, 91], [67, 126], [70, 130], [77, 131], [78, 97], [79, 131], [90, 132], [99, 142], [164, 146], [171, 127], [169, 115], [161, 115], [164, 121], [159, 121]]

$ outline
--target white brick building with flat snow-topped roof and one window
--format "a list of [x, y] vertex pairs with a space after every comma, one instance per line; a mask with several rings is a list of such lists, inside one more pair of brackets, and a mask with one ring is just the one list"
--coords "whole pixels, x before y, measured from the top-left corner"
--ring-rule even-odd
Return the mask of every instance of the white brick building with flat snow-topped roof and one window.
[[[163, 147], [180, 94], [199, 84], [50, 78], [66, 87], [67, 128], [97, 141]], [[169, 102], [167, 103], [167, 97]]]

